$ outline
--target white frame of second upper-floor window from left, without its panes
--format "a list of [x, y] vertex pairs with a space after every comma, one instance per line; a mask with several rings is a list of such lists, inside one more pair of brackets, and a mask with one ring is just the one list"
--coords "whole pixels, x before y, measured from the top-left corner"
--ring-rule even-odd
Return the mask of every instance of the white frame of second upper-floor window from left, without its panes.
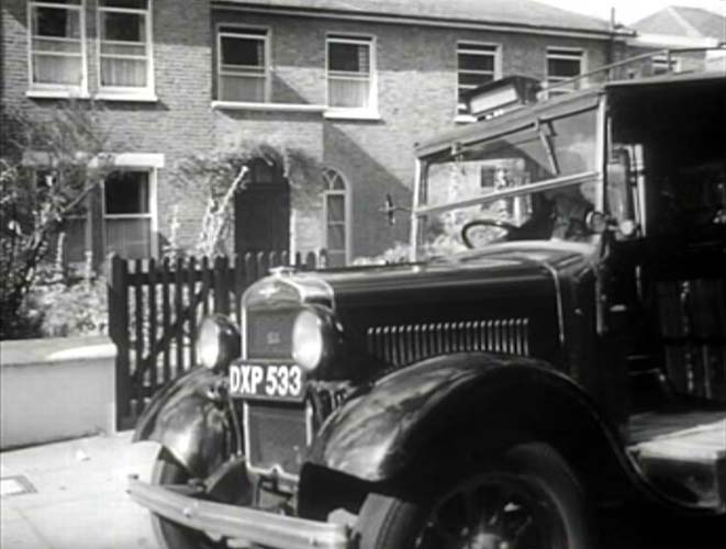
[[[99, 92], [96, 94], [98, 99], [105, 100], [120, 100], [120, 101], [133, 101], [133, 100], [149, 100], [155, 101], [155, 82], [154, 82], [154, 18], [153, 18], [153, 1], [146, 0], [146, 9], [143, 8], [116, 8], [102, 5], [99, 0], [96, 11], [96, 65], [98, 72], [98, 89]], [[101, 40], [101, 15], [102, 13], [133, 13], [136, 15], [142, 15], [144, 18], [144, 29], [145, 29], [145, 44], [146, 44], [146, 55], [119, 55], [119, 54], [101, 54], [101, 43], [114, 41], [102, 41]], [[103, 86], [101, 81], [101, 58], [102, 57], [126, 57], [133, 59], [144, 59], [146, 60], [146, 86]]]

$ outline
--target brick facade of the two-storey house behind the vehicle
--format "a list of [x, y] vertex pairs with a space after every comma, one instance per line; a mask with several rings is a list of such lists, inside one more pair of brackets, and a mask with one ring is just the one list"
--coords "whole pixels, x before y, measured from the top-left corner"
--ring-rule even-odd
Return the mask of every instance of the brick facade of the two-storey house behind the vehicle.
[[557, 85], [621, 59], [628, 36], [500, 0], [5, 0], [2, 26], [3, 104], [42, 119], [93, 99], [119, 143], [100, 222], [70, 225], [70, 255], [191, 245], [204, 203], [178, 192], [179, 163], [264, 142], [313, 158], [319, 183], [256, 166], [234, 250], [326, 248], [334, 265], [407, 240], [379, 208], [411, 203], [413, 146], [470, 121], [461, 93], [510, 75]]

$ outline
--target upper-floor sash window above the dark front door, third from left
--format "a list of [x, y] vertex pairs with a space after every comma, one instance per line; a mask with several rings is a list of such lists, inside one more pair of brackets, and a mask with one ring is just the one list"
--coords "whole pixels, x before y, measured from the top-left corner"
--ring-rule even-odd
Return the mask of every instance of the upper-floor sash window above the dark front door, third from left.
[[220, 101], [265, 103], [270, 100], [269, 44], [264, 29], [217, 29]]

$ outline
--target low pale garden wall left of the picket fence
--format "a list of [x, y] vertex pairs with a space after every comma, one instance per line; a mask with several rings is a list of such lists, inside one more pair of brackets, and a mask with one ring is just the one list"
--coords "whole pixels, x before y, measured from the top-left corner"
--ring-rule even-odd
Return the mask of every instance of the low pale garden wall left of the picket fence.
[[0, 341], [0, 449], [115, 430], [107, 336]]

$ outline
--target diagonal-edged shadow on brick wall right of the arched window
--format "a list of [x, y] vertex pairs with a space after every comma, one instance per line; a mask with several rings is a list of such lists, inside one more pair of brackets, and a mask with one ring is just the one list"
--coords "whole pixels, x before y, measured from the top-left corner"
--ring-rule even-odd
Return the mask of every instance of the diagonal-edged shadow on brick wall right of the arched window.
[[410, 217], [399, 212], [395, 224], [389, 225], [379, 209], [391, 194], [396, 205], [410, 208], [413, 193], [413, 165], [410, 181], [403, 181], [372, 158], [345, 132], [325, 124], [325, 158], [327, 166], [339, 170], [349, 184], [353, 215], [353, 256], [376, 256], [392, 248], [396, 242], [409, 242]]

